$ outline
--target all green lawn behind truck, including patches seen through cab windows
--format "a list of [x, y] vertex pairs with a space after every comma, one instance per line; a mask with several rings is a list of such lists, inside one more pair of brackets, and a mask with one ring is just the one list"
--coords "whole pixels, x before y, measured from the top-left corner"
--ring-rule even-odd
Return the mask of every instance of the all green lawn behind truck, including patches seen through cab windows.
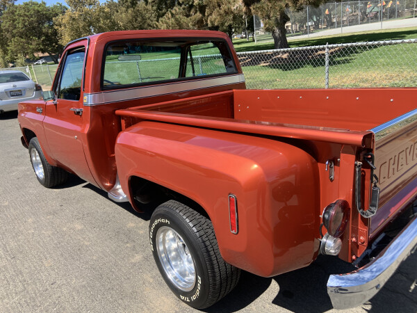
[[[270, 37], [269, 37], [270, 38]], [[393, 29], [363, 33], [332, 35], [322, 38], [308, 38], [293, 40], [291, 47], [309, 47], [336, 43], [366, 42], [379, 40], [398, 40], [417, 38], [417, 27], [408, 29]], [[273, 49], [273, 42], [265, 42], [268, 36], [259, 38], [264, 40], [255, 44], [245, 39], [234, 40], [236, 51], [259, 51]], [[272, 38], [270, 38], [272, 39]], [[211, 54], [211, 49], [203, 49], [202, 54]], [[213, 50], [213, 52], [215, 52]], [[196, 54], [193, 56], [195, 57]], [[177, 54], [161, 54], [160, 58], [172, 58]], [[309, 51], [307, 54], [256, 54], [252, 56], [250, 66], [243, 63], [247, 88], [324, 88], [325, 87], [325, 57], [320, 51]], [[289, 57], [288, 57], [289, 56]], [[149, 56], [150, 58], [151, 56]], [[276, 57], [276, 59], [274, 59]], [[111, 56], [116, 61], [117, 56]], [[155, 58], [155, 56], [152, 56]], [[143, 61], [147, 58], [145, 57]], [[110, 60], [108, 60], [110, 61]], [[241, 62], [243, 59], [241, 59]], [[175, 63], [173, 66], [172, 62]], [[218, 66], [217, 61], [204, 61], [202, 67], [198, 64], [196, 74], [200, 68], [206, 72], [208, 68]], [[251, 63], [252, 62], [252, 63]], [[176, 60], [158, 62], [140, 62], [140, 70], [136, 63], [129, 68], [120, 70], [113, 65], [111, 81], [131, 83], [152, 81], [151, 77], [177, 77], [178, 65]], [[154, 63], [154, 64], [152, 64]], [[154, 65], [159, 70], [155, 70]], [[146, 66], [145, 66], [146, 65]], [[210, 65], [209, 67], [207, 67]], [[359, 87], [415, 87], [417, 86], [417, 43], [378, 47], [344, 47], [332, 51], [329, 56], [329, 87], [330, 88], [359, 88]], [[51, 87], [51, 78], [57, 65], [35, 66], [38, 83], [44, 90]], [[33, 79], [35, 75], [29, 66]], [[50, 78], [51, 77], [51, 78]], [[132, 79], [129, 81], [129, 79]], [[146, 79], [148, 78], [148, 79]], [[127, 79], [127, 80], [126, 80]], [[155, 79], [161, 80], [161, 79]]]

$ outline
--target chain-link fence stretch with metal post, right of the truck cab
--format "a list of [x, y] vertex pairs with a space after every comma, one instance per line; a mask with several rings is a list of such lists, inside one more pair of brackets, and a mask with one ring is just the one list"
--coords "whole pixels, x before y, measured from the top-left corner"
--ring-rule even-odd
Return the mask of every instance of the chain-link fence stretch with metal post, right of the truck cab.
[[417, 39], [239, 52], [250, 89], [417, 86]]

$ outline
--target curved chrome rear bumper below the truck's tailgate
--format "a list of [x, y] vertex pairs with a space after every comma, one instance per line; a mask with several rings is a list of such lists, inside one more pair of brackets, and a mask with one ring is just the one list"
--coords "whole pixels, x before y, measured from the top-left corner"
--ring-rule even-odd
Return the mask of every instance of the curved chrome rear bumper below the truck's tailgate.
[[372, 262], [357, 271], [330, 275], [327, 293], [335, 309], [357, 307], [375, 296], [417, 246], [417, 217]]

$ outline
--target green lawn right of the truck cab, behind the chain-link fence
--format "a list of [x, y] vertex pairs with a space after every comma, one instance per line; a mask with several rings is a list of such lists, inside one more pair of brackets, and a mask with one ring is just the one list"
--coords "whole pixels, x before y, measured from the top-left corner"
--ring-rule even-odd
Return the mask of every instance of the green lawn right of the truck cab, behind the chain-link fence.
[[[417, 27], [332, 35], [290, 42], [291, 47], [417, 38]], [[234, 40], [236, 51], [273, 49], [273, 42]], [[241, 56], [241, 55], [240, 55]], [[247, 88], [325, 88], [324, 51], [255, 54], [243, 66]], [[241, 63], [245, 65], [245, 59]], [[417, 86], [417, 43], [341, 47], [329, 56], [329, 88]]]

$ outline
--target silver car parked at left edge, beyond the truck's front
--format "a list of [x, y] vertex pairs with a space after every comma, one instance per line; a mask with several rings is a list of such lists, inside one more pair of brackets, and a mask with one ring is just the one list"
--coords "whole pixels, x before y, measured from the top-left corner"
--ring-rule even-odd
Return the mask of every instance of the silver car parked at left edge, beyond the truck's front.
[[17, 110], [19, 102], [42, 98], [42, 87], [19, 71], [0, 71], [0, 113]]

